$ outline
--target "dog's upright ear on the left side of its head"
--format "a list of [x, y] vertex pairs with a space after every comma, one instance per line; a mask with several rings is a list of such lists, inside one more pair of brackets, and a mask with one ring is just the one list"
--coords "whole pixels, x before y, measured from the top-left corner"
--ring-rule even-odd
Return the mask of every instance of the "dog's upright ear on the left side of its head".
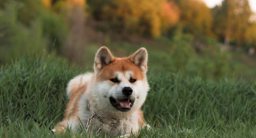
[[104, 66], [113, 62], [113, 59], [109, 49], [105, 46], [101, 47], [95, 55], [94, 71], [98, 73]]

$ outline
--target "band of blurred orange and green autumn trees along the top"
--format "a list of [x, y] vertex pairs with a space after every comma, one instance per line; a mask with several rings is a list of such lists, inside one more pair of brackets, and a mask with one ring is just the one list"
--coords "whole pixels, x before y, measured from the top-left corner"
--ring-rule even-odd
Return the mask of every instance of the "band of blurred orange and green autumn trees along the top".
[[[0, 2], [0, 7], [5, 2]], [[46, 9], [65, 19], [71, 30], [77, 30], [71, 31], [76, 32], [72, 34], [77, 35], [87, 21], [96, 21], [97, 31], [114, 35], [172, 38], [184, 34], [201, 42], [210, 38], [224, 45], [256, 47], [256, 16], [248, 0], [223, 0], [212, 9], [201, 0], [22, 0], [22, 3], [18, 9], [21, 23], [29, 25]]]

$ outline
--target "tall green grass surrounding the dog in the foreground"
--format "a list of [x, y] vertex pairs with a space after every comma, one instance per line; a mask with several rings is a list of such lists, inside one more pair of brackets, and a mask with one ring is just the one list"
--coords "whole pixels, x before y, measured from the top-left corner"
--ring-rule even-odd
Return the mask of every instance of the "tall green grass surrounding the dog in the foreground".
[[[51, 57], [1, 66], [0, 137], [81, 137], [50, 129], [63, 118], [67, 82], [85, 71]], [[151, 129], [137, 137], [256, 137], [255, 81], [213, 81], [167, 71], [155, 72], [148, 81], [142, 110]], [[87, 137], [84, 131], [82, 137]]]

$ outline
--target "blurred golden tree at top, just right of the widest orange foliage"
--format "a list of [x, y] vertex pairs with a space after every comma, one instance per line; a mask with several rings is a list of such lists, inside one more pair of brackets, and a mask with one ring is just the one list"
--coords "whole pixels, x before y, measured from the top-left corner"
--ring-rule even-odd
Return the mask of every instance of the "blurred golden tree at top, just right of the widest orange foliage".
[[181, 24], [185, 33], [191, 33], [196, 37], [204, 35], [215, 37], [211, 31], [212, 13], [203, 1], [181, 0]]

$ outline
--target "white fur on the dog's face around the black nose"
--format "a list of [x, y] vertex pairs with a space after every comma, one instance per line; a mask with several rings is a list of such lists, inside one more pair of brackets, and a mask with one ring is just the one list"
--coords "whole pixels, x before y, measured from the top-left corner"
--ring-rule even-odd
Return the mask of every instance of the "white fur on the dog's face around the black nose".
[[109, 98], [113, 97], [116, 100], [123, 100], [127, 98], [122, 92], [124, 87], [131, 87], [133, 92], [129, 99], [135, 100], [133, 106], [131, 108], [132, 111], [138, 110], [143, 102], [146, 100], [147, 91], [149, 90], [149, 86], [147, 80], [137, 80], [135, 83], [129, 82], [131, 78], [133, 78], [133, 72], [116, 72], [116, 77], [120, 81], [116, 83], [114, 86], [110, 85], [112, 83], [110, 80], [106, 80], [103, 82], [97, 82], [93, 89], [93, 97], [98, 106], [100, 106], [101, 110], [116, 110], [110, 103]]

